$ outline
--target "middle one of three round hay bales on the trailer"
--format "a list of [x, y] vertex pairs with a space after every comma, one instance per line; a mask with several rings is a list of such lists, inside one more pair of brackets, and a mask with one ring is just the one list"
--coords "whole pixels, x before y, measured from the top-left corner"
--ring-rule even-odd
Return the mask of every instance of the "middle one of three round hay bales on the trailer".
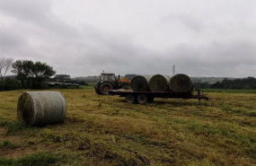
[[149, 81], [149, 89], [152, 92], [166, 92], [169, 89], [170, 77], [162, 74], [155, 74]]

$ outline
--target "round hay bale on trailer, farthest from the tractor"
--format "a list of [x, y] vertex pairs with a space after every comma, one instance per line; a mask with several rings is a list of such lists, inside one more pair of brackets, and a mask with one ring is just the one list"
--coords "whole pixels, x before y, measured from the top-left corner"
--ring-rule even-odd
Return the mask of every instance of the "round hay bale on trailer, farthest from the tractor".
[[172, 92], [192, 92], [190, 77], [186, 74], [176, 74], [170, 80]]

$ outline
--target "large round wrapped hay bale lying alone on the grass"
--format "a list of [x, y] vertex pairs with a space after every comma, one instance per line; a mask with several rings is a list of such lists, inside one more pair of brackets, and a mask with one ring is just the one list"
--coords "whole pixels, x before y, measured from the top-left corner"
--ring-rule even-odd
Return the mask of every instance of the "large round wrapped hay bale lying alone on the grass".
[[66, 117], [66, 101], [60, 92], [22, 92], [17, 116], [28, 126], [60, 123]]

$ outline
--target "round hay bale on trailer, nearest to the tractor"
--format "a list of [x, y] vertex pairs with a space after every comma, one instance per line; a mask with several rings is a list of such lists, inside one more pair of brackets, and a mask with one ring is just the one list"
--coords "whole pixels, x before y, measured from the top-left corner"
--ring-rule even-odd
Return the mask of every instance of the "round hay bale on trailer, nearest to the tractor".
[[131, 89], [134, 92], [148, 92], [148, 83], [153, 75], [136, 75], [131, 79]]

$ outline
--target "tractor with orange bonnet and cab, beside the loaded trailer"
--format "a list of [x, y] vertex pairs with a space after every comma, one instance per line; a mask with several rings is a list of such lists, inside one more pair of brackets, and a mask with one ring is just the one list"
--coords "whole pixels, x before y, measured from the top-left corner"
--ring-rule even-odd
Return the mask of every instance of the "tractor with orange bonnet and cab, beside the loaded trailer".
[[115, 74], [102, 73], [101, 81], [99, 81], [94, 89], [97, 94], [108, 95], [109, 90], [117, 90], [121, 88], [128, 88], [130, 80], [128, 78], [116, 78]]

